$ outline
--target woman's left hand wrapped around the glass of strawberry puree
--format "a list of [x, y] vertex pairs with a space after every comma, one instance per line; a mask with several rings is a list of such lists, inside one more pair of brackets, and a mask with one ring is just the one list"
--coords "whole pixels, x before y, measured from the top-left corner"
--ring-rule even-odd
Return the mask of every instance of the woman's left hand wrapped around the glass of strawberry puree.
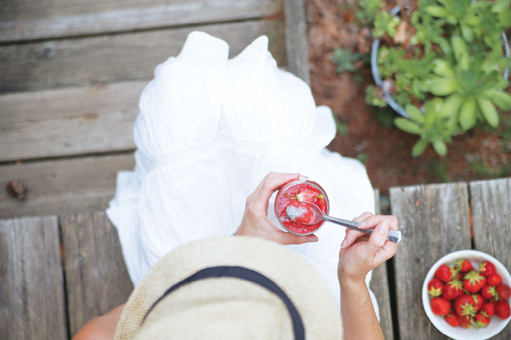
[[299, 175], [298, 173], [268, 173], [255, 191], [248, 196], [245, 214], [236, 231], [236, 236], [260, 237], [281, 244], [316, 242], [318, 238], [315, 235], [294, 235], [283, 232], [268, 219], [268, 201], [271, 194], [290, 180], [298, 178]]

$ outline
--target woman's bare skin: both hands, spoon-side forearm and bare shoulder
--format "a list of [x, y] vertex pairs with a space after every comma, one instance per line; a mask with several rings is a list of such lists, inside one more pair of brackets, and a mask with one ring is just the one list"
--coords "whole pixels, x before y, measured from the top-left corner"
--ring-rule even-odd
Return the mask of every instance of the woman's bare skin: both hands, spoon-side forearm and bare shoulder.
[[[293, 235], [278, 230], [267, 217], [268, 200], [272, 193], [298, 178], [298, 174], [269, 173], [247, 198], [245, 214], [235, 237], [257, 237], [281, 244], [310, 242], [308, 236]], [[364, 213], [354, 219], [360, 222], [361, 229], [374, 228], [370, 237], [348, 230], [341, 242], [337, 278], [341, 293], [341, 318], [344, 339], [383, 339], [373, 303], [369, 296], [365, 277], [367, 273], [391, 258], [397, 251], [397, 244], [386, 240], [389, 230], [397, 230], [397, 219], [393, 216]], [[221, 252], [221, 250], [218, 250]], [[277, 259], [278, 260], [278, 259]], [[304, 278], [306, 279], [306, 278]], [[297, 278], [299, 281], [301, 278]], [[75, 335], [74, 340], [110, 340], [125, 305], [114, 308], [85, 324]], [[200, 326], [195, 326], [200, 327]], [[247, 336], [250, 336], [247, 334]], [[341, 337], [342, 334], [339, 334]]]

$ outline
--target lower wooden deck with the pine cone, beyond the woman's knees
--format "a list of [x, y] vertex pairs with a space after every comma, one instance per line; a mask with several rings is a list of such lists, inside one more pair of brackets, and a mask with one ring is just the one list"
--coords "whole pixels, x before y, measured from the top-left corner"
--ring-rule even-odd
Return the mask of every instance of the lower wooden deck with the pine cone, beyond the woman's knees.
[[[303, 0], [3, 2], [0, 217], [104, 209], [115, 174], [134, 166], [142, 89], [194, 30], [230, 56], [265, 34], [277, 64], [309, 81]], [[25, 200], [7, 193], [12, 179]]]

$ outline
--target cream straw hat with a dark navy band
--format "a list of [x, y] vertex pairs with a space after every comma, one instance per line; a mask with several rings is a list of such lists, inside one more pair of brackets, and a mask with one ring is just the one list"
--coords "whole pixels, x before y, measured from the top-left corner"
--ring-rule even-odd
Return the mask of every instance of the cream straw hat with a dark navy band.
[[246, 236], [194, 241], [131, 293], [115, 339], [342, 339], [326, 283], [283, 245]]

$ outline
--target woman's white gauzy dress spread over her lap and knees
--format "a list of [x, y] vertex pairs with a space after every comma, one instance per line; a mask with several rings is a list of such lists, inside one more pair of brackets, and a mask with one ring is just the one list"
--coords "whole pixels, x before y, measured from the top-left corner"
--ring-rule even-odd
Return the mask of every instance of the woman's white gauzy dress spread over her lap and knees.
[[[336, 133], [332, 111], [316, 107], [309, 86], [277, 68], [268, 38], [233, 59], [228, 50], [221, 39], [191, 33], [177, 57], [156, 67], [140, 97], [136, 166], [119, 172], [106, 211], [134, 285], [178, 245], [231, 235], [247, 196], [270, 171], [319, 183], [333, 216], [375, 210], [365, 167], [325, 148]], [[277, 225], [273, 200], [268, 216]], [[289, 246], [319, 271], [336, 301], [344, 233], [327, 223], [315, 233], [318, 242]]]

